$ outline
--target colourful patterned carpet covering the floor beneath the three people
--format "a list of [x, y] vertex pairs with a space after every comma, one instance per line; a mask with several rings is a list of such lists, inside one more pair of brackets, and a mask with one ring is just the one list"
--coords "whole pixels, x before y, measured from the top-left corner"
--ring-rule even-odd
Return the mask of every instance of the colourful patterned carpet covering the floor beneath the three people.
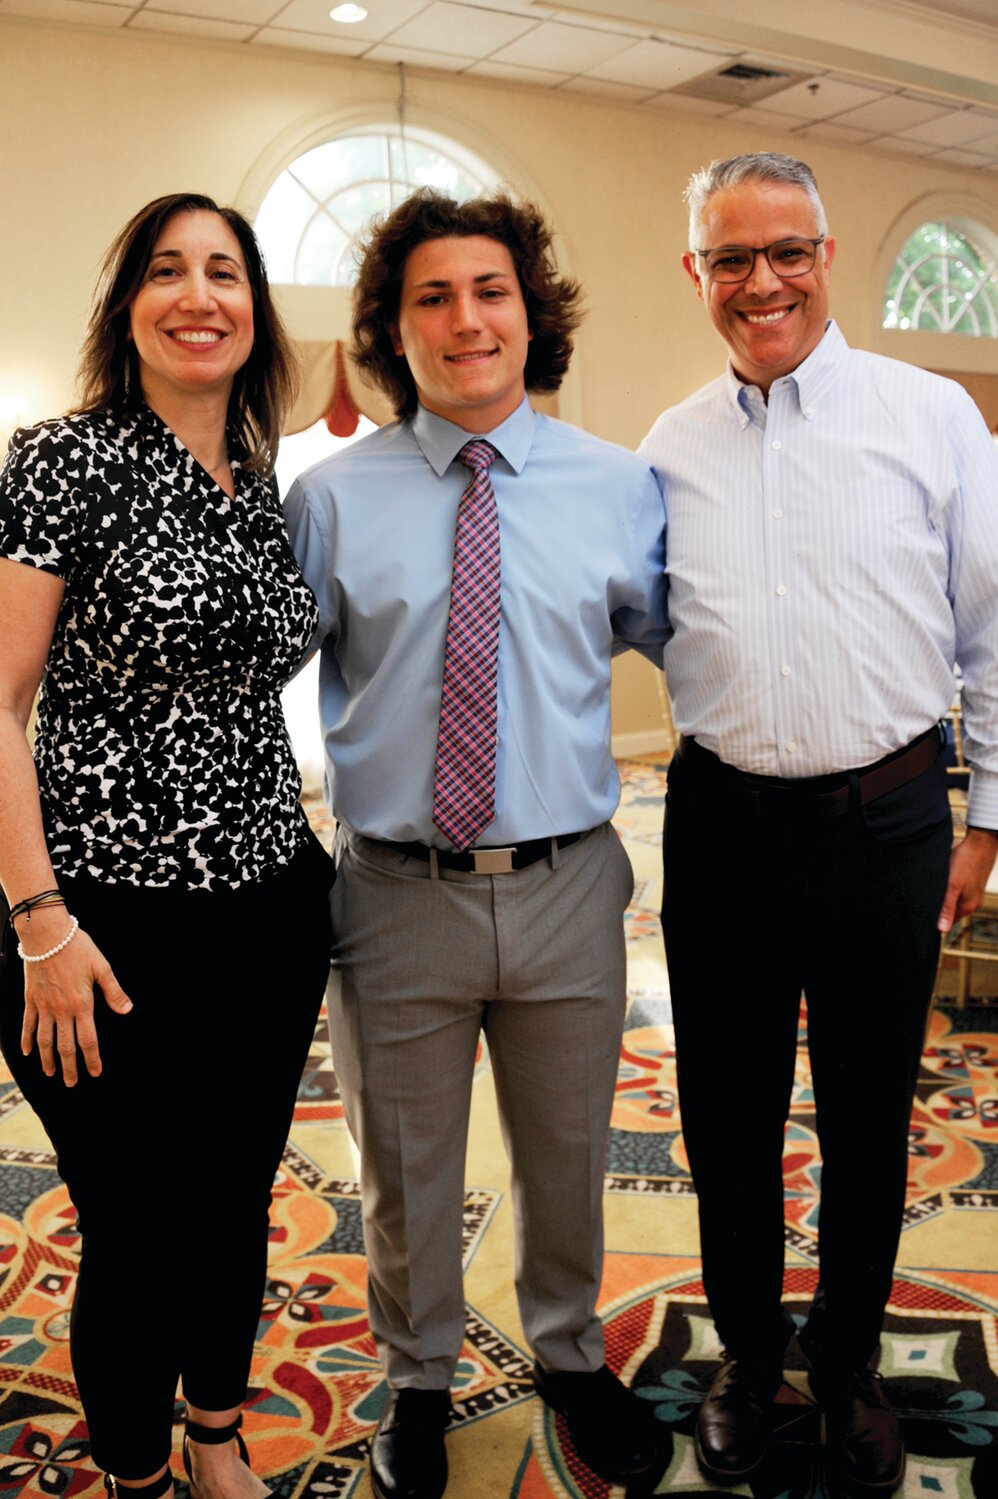
[[[617, 826], [635, 866], [631, 1007], [607, 1169], [601, 1312], [611, 1367], [662, 1424], [670, 1496], [712, 1496], [692, 1421], [716, 1339], [697, 1259], [676, 1103], [659, 902], [662, 767], [628, 763]], [[322, 814], [316, 811], [316, 823]], [[327, 829], [328, 830], [328, 829]], [[719, 937], [722, 937], [719, 917]], [[802, 1036], [803, 1042], [803, 1024]], [[998, 1009], [938, 1007], [911, 1129], [911, 1177], [881, 1370], [911, 1453], [904, 1499], [998, 1495]], [[856, 1045], [863, 1045], [857, 1034]], [[862, 1099], [857, 1108], [862, 1108]], [[737, 1130], [731, 1126], [733, 1160]], [[364, 1312], [357, 1162], [324, 1024], [303, 1076], [271, 1219], [246, 1436], [280, 1496], [369, 1499], [366, 1441], [385, 1399]], [[814, 1289], [820, 1159], [806, 1051], [787, 1130], [791, 1312]], [[465, 1207], [468, 1333], [448, 1436], [454, 1499], [622, 1499], [578, 1463], [530, 1387], [511, 1286], [505, 1157], [483, 1051]], [[862, 1225], [857, 1225], [862, 1231]], [[75, 1214], [37, 1121], [0, 1076], [0, 1490], [97, 1495], [69, 1364]], [[136, 1307], [136, 1360], [142, 1349]], [[178, 1420], [181, 1406], [178, 1405]], [[727, 1490], [826, 1499], [820, 1418], [791, 1345], [769, 1469]], [[174, 1466], [183, 1492], [177, 1433]]]

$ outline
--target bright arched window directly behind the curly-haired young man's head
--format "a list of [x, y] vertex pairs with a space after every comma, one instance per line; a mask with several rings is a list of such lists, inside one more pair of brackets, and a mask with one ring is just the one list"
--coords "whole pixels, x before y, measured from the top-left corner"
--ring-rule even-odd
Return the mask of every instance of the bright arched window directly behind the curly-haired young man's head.
[[298, 156], [261, 204], [256, 234], [270, 279], [352, 286], [354, 246], [375, 216], [415, 187], [463, 201], [496, 183], [486, 162], [432, 130], [373, 124], [325, 141]]

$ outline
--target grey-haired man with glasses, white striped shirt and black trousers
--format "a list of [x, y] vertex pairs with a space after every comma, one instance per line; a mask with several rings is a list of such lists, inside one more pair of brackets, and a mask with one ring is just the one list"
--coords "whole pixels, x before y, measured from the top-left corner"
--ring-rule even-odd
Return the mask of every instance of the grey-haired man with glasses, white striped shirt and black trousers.
[[[904, 1444], [869, 1363], [937, 923], [976, 908], [997, 848], [998, 457], [959, 387], [853, 351], [829, 322], [835, 240], [803, 162], [715, 162], [686, 196], [683, 265], [730, 366], [640, 451], [665, 484], [683, 738], [662, 922], [725, 1351], [697, 1451], [718, 1481], [766, 1451], [790, 1334], [781, 1153], [803, 989], [823, 1172], [800, 1345], [833, 1481], [890, 1493]], [[976, 769], [950, 859], [938, 720], [955, 661]]]

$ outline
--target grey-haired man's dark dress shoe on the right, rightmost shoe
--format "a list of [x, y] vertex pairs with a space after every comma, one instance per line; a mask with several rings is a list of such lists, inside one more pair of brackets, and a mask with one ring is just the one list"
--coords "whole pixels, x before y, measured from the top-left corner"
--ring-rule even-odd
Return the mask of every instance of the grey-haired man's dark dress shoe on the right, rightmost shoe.
[[872, 1369], [833, 1373], [812, 1367], [811, 1388], [824, 1411], [827, 1477], [833, 1495], [875, 1499], [905, 1477], [905, 1444], [884, 1384]]

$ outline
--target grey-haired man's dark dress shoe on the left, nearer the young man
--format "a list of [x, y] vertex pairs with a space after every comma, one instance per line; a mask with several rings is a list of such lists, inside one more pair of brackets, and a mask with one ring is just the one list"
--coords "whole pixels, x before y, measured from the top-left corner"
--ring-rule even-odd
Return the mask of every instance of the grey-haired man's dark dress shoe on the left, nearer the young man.
[[773, 1396], [782, 1370], [728, 1358], [713, 1376], [697, 1417], [697, 1462], [709, 1478], [736, 1484], [766, 1457]]

